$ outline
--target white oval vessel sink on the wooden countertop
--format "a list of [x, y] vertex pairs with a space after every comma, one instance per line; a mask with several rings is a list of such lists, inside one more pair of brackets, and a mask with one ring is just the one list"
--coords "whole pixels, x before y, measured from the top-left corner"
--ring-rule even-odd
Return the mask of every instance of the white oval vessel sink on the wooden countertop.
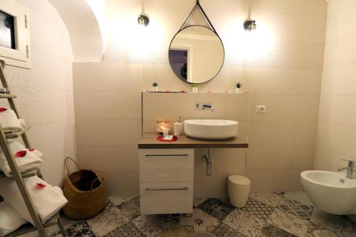
[[229, 139], [237, 135], [238, 125], [232, 120], [185, 120], [184, 132], [198, 139]]

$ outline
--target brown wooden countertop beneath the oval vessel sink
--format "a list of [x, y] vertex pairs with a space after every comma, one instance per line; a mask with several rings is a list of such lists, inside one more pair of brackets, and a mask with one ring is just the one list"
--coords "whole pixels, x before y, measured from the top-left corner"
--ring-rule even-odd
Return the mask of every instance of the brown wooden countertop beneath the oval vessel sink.
[[248, 142], [239, 137], [225, 140], [193, 139], [185, 135], [178, 136], [176, 142], [159, 142], [157, 134], [148, 133], [141, 137], [138, 143], [139, 149], [174, 149], [174, 148], [247, 148]]

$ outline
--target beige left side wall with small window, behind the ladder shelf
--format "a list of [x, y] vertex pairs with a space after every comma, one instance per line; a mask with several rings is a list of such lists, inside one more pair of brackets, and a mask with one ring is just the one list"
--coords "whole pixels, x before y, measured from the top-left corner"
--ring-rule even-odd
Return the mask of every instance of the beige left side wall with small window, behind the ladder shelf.
[[[61, 17], [46, 0], [19, 0], [30, 9], [32, 69], [7, 65], [32, 146], [45, 155], [46, 181], [61, 185], [63, 159], [75, 157], [72, 50]], [[7, 102], [6, 102], [7, 103]], [[2, 104], [6, 105], [6, 104]]]

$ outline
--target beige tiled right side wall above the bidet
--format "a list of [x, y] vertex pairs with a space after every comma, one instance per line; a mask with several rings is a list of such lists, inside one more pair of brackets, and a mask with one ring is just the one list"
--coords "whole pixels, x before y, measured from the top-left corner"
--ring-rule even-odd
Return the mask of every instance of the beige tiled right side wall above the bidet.
[[315, 169], [336, 171], [356, 158], [356, 1], [331, 0], [320, 92]]

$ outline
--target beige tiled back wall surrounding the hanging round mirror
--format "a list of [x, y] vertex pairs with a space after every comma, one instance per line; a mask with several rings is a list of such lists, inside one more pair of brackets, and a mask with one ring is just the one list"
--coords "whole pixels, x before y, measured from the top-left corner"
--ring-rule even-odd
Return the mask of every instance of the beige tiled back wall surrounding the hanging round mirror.
[[[204, 95], [209, 102], [219, 93], [234, 92], [236, 82], [244, 83], [249, 94], [245, 102], [250, 111], [246, 119], [250, 148], [246, 164], [238, 162], [240, 158], [234, 160], [234, 154], [226, 155], [236, 162], [228, 167], [250, 177], [253, 191], [298, 190], [298, 174], [313, 167], [326, 3], [252, 1], [251, 16], [258, 29], [246, 33], [242, 23], [247, 2], [201, 1], [224, 43], [226, 60], [219, 75], [199, 85], [199, 91], [214, 92]], [[103, 62], [73, 64], [78, 158], [84, 167], [103, 173], [110, 194], [138, 193], [140, 92], [151, 90], [154, 81], [162, 91], [191, 90], [191, 85], [174, 75], [167, 51], [194, 3], [145, 1], [150, 26], [140, 31], [141, 1], [108, 0]], [[231, 100], [231, 106], [240, 102]], [[216, 103], [217, 110], [222, 110], [224, 103]], [[255, 114], [256, 105], [267, 105], [266, 114]], [[199, 195], [224, 193], [221, 166], [214, 166], [221, 171], [219, 176], [210, 178], [216, 189]], [[196, 178], [196, 187], [210, 184], [202, 174]]]

